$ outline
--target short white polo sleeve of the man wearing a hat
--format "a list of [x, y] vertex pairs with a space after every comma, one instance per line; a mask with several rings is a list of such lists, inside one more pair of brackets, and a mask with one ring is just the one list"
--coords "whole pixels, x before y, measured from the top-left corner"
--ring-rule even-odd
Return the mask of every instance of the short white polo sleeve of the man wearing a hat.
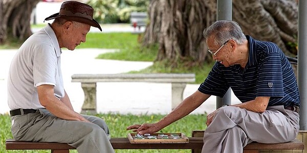
[[51, 46], [37, 46], [33, 57], [34, 86], [43, 84], [56, 86], [55, 75], [57, 58], [55, 50]]

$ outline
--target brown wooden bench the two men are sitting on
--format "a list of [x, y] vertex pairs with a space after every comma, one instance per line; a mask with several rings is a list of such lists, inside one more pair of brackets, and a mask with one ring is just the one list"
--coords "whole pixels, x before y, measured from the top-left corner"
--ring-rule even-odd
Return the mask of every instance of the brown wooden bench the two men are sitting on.
[[[114, 149], [191, 149], [191, 152], [200, 152], [203, 147], [202, 137], [189, 137], [189, 143], [130, 143], [128, 138], [111, 138]], [[54, 142], [25, 142], [6, 140], [7, 150], [36, 150], [48, 149], [53, 153], [69, 153], [70, 149], [76, 149], [66, 143]], [[244, 153], [256, 153], [262, 149], [304, 149], [304, 144], [299, 140], [287, 143], [263, 144], [252, 142], [244, 147]], [[297, 152], [297, 151], [296, 151]]]

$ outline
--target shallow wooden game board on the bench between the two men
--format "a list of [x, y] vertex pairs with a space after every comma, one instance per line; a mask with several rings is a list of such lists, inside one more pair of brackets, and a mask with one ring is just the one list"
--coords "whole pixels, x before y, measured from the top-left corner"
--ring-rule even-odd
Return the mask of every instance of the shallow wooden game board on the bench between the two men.
[[[167, 135], [168, 139], [162, 139], [159, 134]], [[179, 138], [173, 139], [171, 134], [178, 135]], [[130, 143], [189, 143], [189, 138], [183, 133], [153, 133], [150, 136], [156, 136], [157, 139], [148, 139], [147, 136], [144, 136], [143, 139], [137, 139], [136, 133], [129, 133], [128, 139]]]

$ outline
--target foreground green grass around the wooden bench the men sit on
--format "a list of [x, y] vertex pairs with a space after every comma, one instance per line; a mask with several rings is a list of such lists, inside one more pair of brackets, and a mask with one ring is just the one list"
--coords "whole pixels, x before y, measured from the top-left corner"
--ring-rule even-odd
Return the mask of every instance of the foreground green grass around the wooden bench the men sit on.
[[[125, 130], [127, 126], [132, 124], [140, 123], [153, 123], [160, 120], [164, 115], [120, 115], [120, 114], [98, 114], [97, 116], [103, 118], [108, 124], [109, 130], [111, 131], [112, 137], [127, 137], [128, 133], [133, 133], [132, 131]], [[0, 152], [50, 152], [50, 150], [5, 150], [5, 140], [11, 139], [12, 134], [10, 131], [11, 121], [9, 115], [0, 115]], [[206, 114], [191, 114], [188, 115], [177, 122], [170, 124], [169, 126], [162, 129], [161, 133], [184, 133], [188, 137], [191, 137], [191, 131], [193, 130], [205, 130], [206, 129]], [[76, 150], [71, 150], [70, 152], [77, 152]], [[191, 152], [191, 150], [116, 150], [116, 152]]]

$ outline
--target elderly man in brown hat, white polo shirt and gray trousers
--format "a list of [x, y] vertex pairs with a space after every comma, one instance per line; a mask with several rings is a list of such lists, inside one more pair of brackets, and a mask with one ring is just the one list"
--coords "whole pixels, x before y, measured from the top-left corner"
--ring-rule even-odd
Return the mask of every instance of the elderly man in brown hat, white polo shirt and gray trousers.
[[94, 9], [67, 1], [51, 24], [30, 36], [12, 60], [8, 77], [8, 105], [15, 140], [61, 142], [78, 152], [114, 152], [106, 123], [74, 111], [63, 88], [61, 49], [74, 50], [85, 42]]

